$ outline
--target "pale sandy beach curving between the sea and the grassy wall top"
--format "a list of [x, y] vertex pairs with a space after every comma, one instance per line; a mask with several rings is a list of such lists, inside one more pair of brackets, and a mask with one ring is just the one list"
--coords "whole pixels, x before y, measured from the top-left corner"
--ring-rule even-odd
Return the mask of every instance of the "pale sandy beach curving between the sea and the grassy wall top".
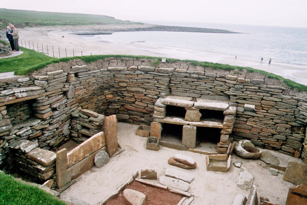
[[[68, 57], [82, 55], [97, 54], [124, 54], [124, 55], [146, 55], [154, 57], [175, 58], [180, 60], [196, 60], [208, 61], [214, 63], [222, 63], [229, 65], [238, 65], [252, 67], [255, 69], [265, 70], [270, 73], [280, 75], [297, 83], [307, 85], [307, 68], [293, 66], [287, 64], [277, 64], [272, 61], [269, 66], [267, 61], [260, 65], [259, 61], [234, 56], [221, 55], [217, 53], [204, 52], [199, 50], [182, 49], [176, 47], [148, 45], [146, 42], [131, 43], [112, 43], [112, 42], [93, 42], [88, 40], [86, 36], [68, 34], [67, 30], [59, 30], [63, 27], [44, 27], [44, 28], [25, 28], [20, 29], [20, 38], [22, 45], [26, 47], [42, 51], [47, 54], [47, 46], [49, 56]], [[69, 27], [69, 29], [73, 29]], [[62, 37], [64, 36], [64, 37]], [[20, 43], [21, 44], [21, 43]], [[52, 51], [53, 46], [53, 51]], [[65, 51], [66, 48], [66, 51]]]

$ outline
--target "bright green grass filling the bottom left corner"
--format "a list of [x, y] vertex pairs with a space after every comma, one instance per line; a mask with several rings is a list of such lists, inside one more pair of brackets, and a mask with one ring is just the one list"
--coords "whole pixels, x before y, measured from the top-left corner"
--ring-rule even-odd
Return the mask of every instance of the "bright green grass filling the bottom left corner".
[[16, 181], [11, 175], [0, 173], [0, 204], [5, 205], [65, 205], [38, 187]]

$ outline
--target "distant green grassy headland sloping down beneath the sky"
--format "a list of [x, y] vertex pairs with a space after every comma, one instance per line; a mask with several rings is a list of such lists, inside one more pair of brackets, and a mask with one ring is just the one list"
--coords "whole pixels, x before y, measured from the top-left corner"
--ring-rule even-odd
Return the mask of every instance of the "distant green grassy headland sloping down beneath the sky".
[[60, 12], [43, 12], [29, 10], [13, 10], [0, 8], [0, 28], [8, 22], [21, 26], [57, 26], [57, 25], [97, 25], [97, 24], [135, 24], [113, 17], [94, 14], [75, 14]]

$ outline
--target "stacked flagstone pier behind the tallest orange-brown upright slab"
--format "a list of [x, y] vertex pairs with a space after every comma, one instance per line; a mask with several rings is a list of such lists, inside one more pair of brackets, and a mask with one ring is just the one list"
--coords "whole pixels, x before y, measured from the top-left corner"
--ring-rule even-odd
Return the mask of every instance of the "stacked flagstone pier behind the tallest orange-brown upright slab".
[[103, 121], [104, 115], [88, 109], [72, 113], [72, 139], [81, 143], [98, 132], [102, 132]]

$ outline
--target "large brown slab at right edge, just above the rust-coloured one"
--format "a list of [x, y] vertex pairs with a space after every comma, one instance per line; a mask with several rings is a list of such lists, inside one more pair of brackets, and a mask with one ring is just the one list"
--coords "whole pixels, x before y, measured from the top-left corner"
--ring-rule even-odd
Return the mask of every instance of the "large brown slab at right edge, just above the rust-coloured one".
[[282, 179], [295, 185], [307, 183], [307, 164], [289, 161]]

